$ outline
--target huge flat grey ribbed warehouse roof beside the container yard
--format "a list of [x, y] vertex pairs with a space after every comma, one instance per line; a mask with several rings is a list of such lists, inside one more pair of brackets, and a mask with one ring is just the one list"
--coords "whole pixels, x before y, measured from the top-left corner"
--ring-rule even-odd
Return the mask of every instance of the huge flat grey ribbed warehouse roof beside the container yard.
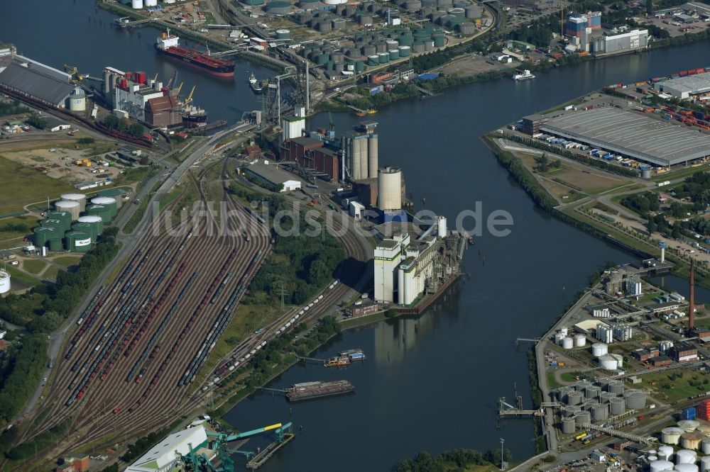
[[710, 155], [710, 136], [618, 108], [565, 113], [541, 130], [662, 166]]

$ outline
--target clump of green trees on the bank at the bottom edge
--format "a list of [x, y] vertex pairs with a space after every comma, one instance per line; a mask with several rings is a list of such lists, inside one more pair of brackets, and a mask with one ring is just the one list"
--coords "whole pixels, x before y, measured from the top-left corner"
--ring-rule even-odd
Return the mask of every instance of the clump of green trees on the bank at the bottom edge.
[[[503, 449], [503, 461], [512, 461], [512, 456], [508, 449]], [[498, 470], [501, 465], [501, 451], [491, 449], [481, 454], [474, 449], [451, 449], [444, 451], [438, 456], [431, 456], [428, 452], [422, 451], [414, 459], [405, 459], [400, 463], [397, 472], [454, 472], [469, 470], [474, 466], [484, 466], [476, 468], [477, 471], [487, 470], [485, 466], [490, 466], [490, 470]]]

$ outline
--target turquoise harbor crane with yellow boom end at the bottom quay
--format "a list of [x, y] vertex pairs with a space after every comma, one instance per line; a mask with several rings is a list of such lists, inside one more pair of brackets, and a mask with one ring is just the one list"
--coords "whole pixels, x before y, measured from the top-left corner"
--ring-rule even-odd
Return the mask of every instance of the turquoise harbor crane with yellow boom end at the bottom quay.
[[[293, 439], [294, 434], [290, 432], [291, 426], [292, 424], [290, 422], [285, 425], [276, 423], [275, 425], [251, 429], [251, 431], [238, 434], [207, 432], [207, 442], [200, 444], [200, 446], [197, 446], [195, 449], [192, 448], [192, 444], [189, 444], [190, 452], [184, 456], [181, 456], [180, 459], [187, 470], [217, 472], [217, 469], [214, 468], [212, 463], [209, 461], [207, 454], [204, 451], [199, 452], [199, 450], [204, 447], [210, 451], [217, 451], [217, 454], [219, 454], [219, 460], [222, 462], [222, 471], [224, 472], [234, 472], [234, 461], [232, 461], [231, 455], [236, 453], [244, 454], [247, 459], [253, 458], [249, 461], [249, 463], [247, 463], [247, 467], [257, 468], [266, 462], [266, 459], [271, 457], [275, 451], [278, 451], [281, 446], [288, 444], [288, 442]], [[241, 451], [239, 449], [227, 449], [226, 447], [231, 442], [239, 441], [241, 439], [248, 439], [272, 430], [276, 433], [276, 441], [256, 453], [253, 451]]]

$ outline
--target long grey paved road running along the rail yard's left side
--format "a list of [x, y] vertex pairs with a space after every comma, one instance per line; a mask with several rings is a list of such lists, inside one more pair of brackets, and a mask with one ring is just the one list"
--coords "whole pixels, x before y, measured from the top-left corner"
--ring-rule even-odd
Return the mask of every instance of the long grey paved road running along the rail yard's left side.
[[[89, 288], [89, 291], [87, 291], [87, 297], [84, 298], [84, 301], [75, 310], [74, 315], [70, 316], [70, 318], [67, 318], [64, 324], [50, 337], [49, 349], [47, 353], [49, 357], [49, 362], [54, 362], [57, 359], [60, 353], [60, 349], [62, 348], [62, 345], [65, 343], [65, 340], [67, 338], [67, 332], [70, 332], [72, 330], [72, 325], [77, 322], [77, 319], [80, 317], [80, 314], [83, 313], [84, 310], [86, 310], [87, 305], [94, 297], [94, 293], [96, 293], [98, 288], [104, 284], [104, 282], [109, 276], [111, 276], [111, 274], [114, 273], [116, 267], [118, 267], [119, 264], [123, 263], [124, 257], [126, 257], [127, 254], [130, 254], [131, 251], [133, 251], [133, 249], [136, 247], [136, 244], [138, 243], [138, 240], [140, 240], [141, 236], [144, 234], [144, 232], [146, 232], [146, 229], [151, 227], [151, 222], [153, 220], [153, 210], [155, 209], [155, 206], [153, 206], [153, 202], [160, 201], [160, 198], [165, 195], [165, 193], [168, 193], [170, 189], [172, 189], [173, 186], [178, 181], [180, 181], [182, 176], [185, 174], [185, 172], [187, 172], [188, 169], [190, 169], [192, 164], [195, 164], [197, 160], [204, 157], [204, 155], [207, 154], [207, 152], [212, 147], [214, 147], [214, 145], [217, 145], [217, 142], [219, 142], [219, 140], [222, 140], [226, 135], [229, 135], [229, 133], [234, 132], [236, 128], [238, 128], [238, 125], [234, 125], [231, 128], [226, 128], [222, 131], [219, 131], [219, 133], [215, 133], [207, 140], [204, 140], [202, 144], [195, 147], [195, 150], [193, 150], [187, 157], [185, 157], [185, 160], [180, 162], [178, 167], [175, 167], [175, 169], [172, 170], [170, 176], [168, 176], [168, 178], [163, 181], [163, 184], [160, 186], [158, 191], [155, 192], [155, 194], [151, 198], [151, 201], [148, 202], [146, 214], [143, 215], [143, 219], [141, 220], [141, 223], [138, 223], [136, 230], [134, 230], [131, 235], [121, 235], [119, 233], [118, 239], [122, 244], [119, 253], [116, 254], [114, 260], [111, 261], [111, 263], [106, 267], [106, 269], [104, 269], [102, 275], [99, 276], [99, 278], [94, 282], [92, 288]], [[153, 189], [153, 186], [155, 186], [156, 181], [163, 178], [164, 175], [165, 172], [160, 172], [158, 175], [153, 176], [153, 178], [149, 180], [146, 185], [143, 185], [142, 188], [138, 191], [138, 198], [145, 197], [146, 194], [149, 193], [151, 189]], [[131, 218], [131, 215], [133, 215], [137, 208], [137, 205], [130, 205], [128, 206], [128, 208], [124, 208], [121, 214], [119, 214], [119, 218], [115, 221], [115, 224], [119, 225], [119, 227], [122, 227], [122, 225], [124, 225], [126, 221]], [[155, 215], [155, 217], [157, 217], [157, 215]], [[49, 369], [48, 366], [45, 366], [45, 372], [43, 373], [43, 377], [48, 378], [51, 373], [51, 369]], [[33, 410], [36, 403], [40, 399], [43, 390], [44, 382], [40, 383], [40, 385], [35, 388], [32, 397], [30, 398], [28, 403], [26, 403], [25, 408], [23, 408], [18, 418], [24, 417], [26, 414], [28, 414], [28, 412], [31, 412]]]

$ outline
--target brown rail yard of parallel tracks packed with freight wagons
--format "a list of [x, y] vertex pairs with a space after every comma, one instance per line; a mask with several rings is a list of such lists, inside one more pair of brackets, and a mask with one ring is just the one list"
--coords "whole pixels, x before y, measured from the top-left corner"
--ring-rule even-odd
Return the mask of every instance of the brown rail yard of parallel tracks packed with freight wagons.
[[[200, 177], [190, 176], [206, 202]], [[23, 439], [33, 439], [71, 417], [70, 429], [53, 451], [64, 452], [130, 439], [195, 412], [205, 405], [208, 386], [297, 322], [322, 317], [359, 282], [366, 249], [351, 232], [342, 231], [338, 221], [326, 222], [344, 245], [346, 260], [337, 274], [342, 283], [334, 281], [307, 305], [288, 310], [258, 335], [246, 338], [214, 371], [200, 372], [271, 252], [263, 220], [226, 190], [224, 198], [233, 216], [223, 224], [239, 237], [208, 235], [208, 225], [195, 227], [192, 218], [157, 237], [146, 231], [116, 279], [94, 289], [55, 362], [53, 388], [39, 403], [43, 420], [28, 428]], [[161, 226], [179, 202], [162, 210]], [[214, 215], [209, 218], [216, 224]], [[245, 228], [249, 240], [241, 237]], [[178, 229], [180, 236], [175, 237], [172, 233]], [[195, 381], [204, 384], [195, 387]]]

